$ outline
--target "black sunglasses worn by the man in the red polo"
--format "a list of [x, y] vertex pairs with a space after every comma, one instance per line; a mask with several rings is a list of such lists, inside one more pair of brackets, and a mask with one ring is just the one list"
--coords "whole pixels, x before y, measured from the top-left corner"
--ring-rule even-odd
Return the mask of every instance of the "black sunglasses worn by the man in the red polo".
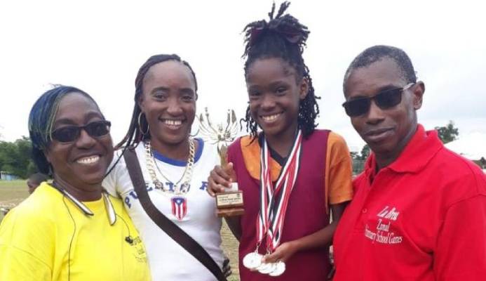
[[410, 83], [403, 88], [381, 91], [372, 97], [348, 100], [346, 103], [343, 103], [342, 106], [344, 107], [344, 110], [346, 110], [346, 115], [349, 117], [364, 115], [366, 112], [368, 112], [370, 110], [371, 100], [374, 100], [374, 103], [380, 109], [386, 110], [401, 103], [403, 91], [409, 89], [414, 84], [415, 83]]

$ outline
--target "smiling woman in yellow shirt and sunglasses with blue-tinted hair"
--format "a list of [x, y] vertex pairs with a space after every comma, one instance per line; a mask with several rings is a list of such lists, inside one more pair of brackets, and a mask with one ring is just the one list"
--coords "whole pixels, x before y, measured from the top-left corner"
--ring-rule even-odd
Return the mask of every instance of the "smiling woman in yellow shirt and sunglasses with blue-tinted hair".
[[150, 280], [122, 202], [102, 188], [110, 123], [87, 93], [58, 86], [29, 115], [33, 158], [50, 174], [0, 225], [0, 280]]

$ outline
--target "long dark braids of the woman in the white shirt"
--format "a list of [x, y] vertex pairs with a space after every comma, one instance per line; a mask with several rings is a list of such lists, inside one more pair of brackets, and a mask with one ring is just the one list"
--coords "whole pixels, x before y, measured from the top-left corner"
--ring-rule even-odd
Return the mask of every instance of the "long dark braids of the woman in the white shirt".
[[[187, 66], [189, 70], [191, 71], [192, 77], [194, 77], [194, 85], [196, 86], [196, 98], [197, 98], [197, 91], [198, 91], [198, 84], [196, 80], [196, 74], [194, 73], [194, 70], [192, 70], [191, 65], [187, 63], [184, 60], [181, 60], [179, 55], [152, 55], [143, 65], [140, 67], [140, 70], [138, 70], [137, 77], [135, 78], [135, 105], [133, 106], [133, 113], [132, 113], [132, 119], [130, 121], [130, 126], [128, 127], [128, 132], [126, 133], [126, 136], [123, 137], [121, 142], [116, 145], [115, 149], [125, 147], [128, 148], [129, 146], [134, 146], [140, 141], [143, 141], [144, 139], [150, 138], [150, 133], [149, 133], [149, 127], [147, 124], [147, 120], [145, 118], [140, 118], [140, 124], [139, 122], [139, 115], [142, 113], [142, 110], [140, 110], [140, 107], [138, 106], [138, 101], [140, 100], [140, 96], [142, 96], [143, 93], [143, 81], [145, 78], [145, 75], [149, 71], [150, 67], [158, 64], [158, 63], [163, 63], [168, 60], [175, 60], [177, 62], [182, 63], [183, 65]], [[143, 116], [143, 115], [142, 115]], [[145, 119], [145, 120], [144, 120]], [[141, 131], [140, 126], [144, 128], [144, 131]]]

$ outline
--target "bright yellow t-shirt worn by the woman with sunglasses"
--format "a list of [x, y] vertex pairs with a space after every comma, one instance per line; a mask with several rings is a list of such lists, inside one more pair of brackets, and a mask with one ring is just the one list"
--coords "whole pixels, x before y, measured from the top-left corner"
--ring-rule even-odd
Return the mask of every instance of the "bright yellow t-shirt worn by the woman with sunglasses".
[[103, 198], [83, 202], [94, 214], [88, 216], [42, 183], [1, 222], [0, 280], [150, 280], [137, 230], [121, 200], [109, 199], [113, 226]]

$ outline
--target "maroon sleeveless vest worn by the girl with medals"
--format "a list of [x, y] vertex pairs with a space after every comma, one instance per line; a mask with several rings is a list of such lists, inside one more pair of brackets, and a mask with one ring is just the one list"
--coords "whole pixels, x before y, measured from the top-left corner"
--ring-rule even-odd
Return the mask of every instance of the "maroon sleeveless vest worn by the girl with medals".
[[[281, 244], [315, 233], [329, 224], [324, 194], [328, 135], [328, 130], [315, 130], [309, 138], [302, 140], [299, 174], [297, 174], [295, 186], [290, 194]], [[230, 145], [228, 158], [234, 164], [234, 170], [238, 177], [238, 187], [243, 190], [245, 202], [245, 214], [241, 216], [242, 234], [239, 247], [241, 281], [326, 280], [330, 270], [328, 247], [298, 251], [285, 263], [285, 273], [279, 277], [252, 272], [243, 266], [243, 257], [255, 251], [257, 244], [256, 221], [259, 212], [259, 180], [252, 178], [245, 168], [240, 142], [241, 139], [238, 139]], [[259, 247], [259, 253], [264, 254], [265, 251], [266, 242], [264, 239]]]

